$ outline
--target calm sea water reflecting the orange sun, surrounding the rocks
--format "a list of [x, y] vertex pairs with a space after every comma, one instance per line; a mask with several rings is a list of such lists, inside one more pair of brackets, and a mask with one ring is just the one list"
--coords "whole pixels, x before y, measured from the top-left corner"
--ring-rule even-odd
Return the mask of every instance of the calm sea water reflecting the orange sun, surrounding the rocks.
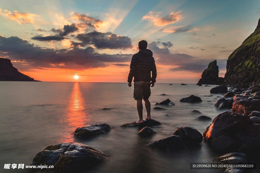
[[[205, 96], [211, 95], [213, 86], [155, 83], [149, 99], [151, 117], [161, 122], [162, 128], [155, 129], [157, 134], [152, 137], [142, 138], [137, 135], [137, 128], [120, 127], [138, 120], [133, 86], [128, 87], [127, 83], [0, 81], [0, 172], [14, 171], [3, 169], [6, 163], [30, 165], [38, 152], [62, 142], [79, 142], [108, 155], [108, 162], [89, 172], [218, 172], [190, 169], [190, 163], [211, 162], [225, 154], [213, 151], [204, 141], [200, 147], [174, 153], [145, 147], [171, 136], [182, 126], [191, 126], [203, 133], [211, 121], [195, 121], [198, 115], [191, 114], [192, 110], [199, 110], [212, 119], [230, 110], [215, 109], [214, 103], [221, 95]], [[160, 95], [163, 93], [167, 95]], [[192, 94], [199, 96], [202, 102], [179, 101]], [[167, 106], [168, 110], [153, 109], [156, 102], [166, 98], [175, 105]], [[145, 107], [143, 114], [145, 118]], [[108, 133], [88, 140], [74, 138], [77, 127], [103, 122], [112, 127]]]

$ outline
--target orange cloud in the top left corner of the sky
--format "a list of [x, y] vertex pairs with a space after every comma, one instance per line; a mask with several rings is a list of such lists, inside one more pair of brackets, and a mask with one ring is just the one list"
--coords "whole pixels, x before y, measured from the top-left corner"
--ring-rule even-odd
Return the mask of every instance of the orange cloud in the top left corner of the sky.
[[8, 17], [11, 20], [15, 20], [19, 24], [34, 23], [34, 18], [38, 15], [31, 13], [20, 13], [18, 11], [9, 11], [0, 9], [0, 15]]

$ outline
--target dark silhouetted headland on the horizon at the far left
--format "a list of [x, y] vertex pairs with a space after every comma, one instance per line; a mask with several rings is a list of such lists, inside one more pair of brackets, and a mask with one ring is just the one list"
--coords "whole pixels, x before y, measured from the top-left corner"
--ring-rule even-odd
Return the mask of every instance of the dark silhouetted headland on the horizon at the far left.
[[36, 81], [19, 72], [10, 59], [0, 58], [0, 81]]

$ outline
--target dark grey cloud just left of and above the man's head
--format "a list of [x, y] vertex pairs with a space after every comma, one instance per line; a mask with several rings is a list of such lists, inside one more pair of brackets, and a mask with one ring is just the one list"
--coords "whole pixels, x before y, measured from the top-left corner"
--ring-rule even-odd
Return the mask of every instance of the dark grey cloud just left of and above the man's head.
[[132, 47], [131, 38], [118, 36], [112, 32], [89, 32], [78, 34], [76, 38], [82, 41], [83, 45], [93, 44], [98, 49], [127, 49]]

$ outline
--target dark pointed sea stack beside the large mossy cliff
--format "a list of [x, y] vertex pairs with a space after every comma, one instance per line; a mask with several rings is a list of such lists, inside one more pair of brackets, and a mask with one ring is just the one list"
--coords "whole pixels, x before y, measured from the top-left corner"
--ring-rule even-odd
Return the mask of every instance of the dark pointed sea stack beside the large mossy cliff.
[[205, 69], [201, 75], [201, 79], [198, 84], [210, 84], [210, 85], [219, 85], [224, 81], [224, 78], [218, 77], [218, 65], [217, 60], [214, 60], [209, 63], [207, 69]]

